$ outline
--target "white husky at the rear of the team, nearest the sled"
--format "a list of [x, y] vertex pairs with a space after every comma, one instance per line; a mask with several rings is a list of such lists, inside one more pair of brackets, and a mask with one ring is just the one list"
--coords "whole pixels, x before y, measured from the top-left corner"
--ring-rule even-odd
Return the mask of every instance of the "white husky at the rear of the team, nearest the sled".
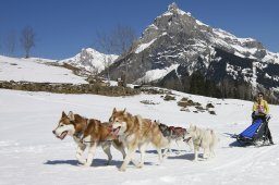
[[190, 128], [186, 131], [184, 140], [190, 140], [190, 139], [193, 140], [195, 161], [197, 161], [199, 148], [204, 149], [204, 153], [203, 153], [204, 159], [215, 156], [214, 149], [218, 143], [218, 137], [213, 130], [209, 130], [209, 128], [204, 130], [204, 128], [198, 128], [196, 126], [190, 125]]

